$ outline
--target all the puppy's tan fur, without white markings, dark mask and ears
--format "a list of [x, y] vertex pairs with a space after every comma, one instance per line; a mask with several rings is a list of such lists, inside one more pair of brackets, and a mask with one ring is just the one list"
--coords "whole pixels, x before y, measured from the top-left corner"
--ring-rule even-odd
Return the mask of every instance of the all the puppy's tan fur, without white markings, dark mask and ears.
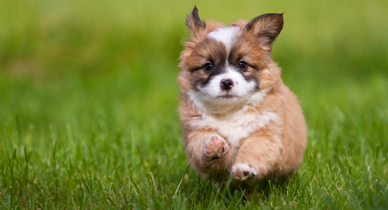
[[[266, 21], [264, 23], [269, 24]], [[246, 24], [247, 21], [238, 21], [231, 25], [244, 28]], [[263, 44], [258, 43], [250, 32], [244, 32], [240, 36], [239, 41], [235, 43], [235, 51], [231, 49], [231, 54], [235, 56], [246, 54], [245, 58], [251, 59], [249, 62], [255, 66], [255, 69], [249, 69], [244, 74], [255, 78], [259, 83], [259, 90], [266, 92], [266, 96], [258, 103], [228, 104], [225, 105], [229, 106], [226, 109], [220, 105], [217, 108], [225, 111], [207, 114], [219, 118], [238, 110], [245, 110], [243, 115], [271, 112], [277, 117], [271, 119], [265, 127], [257, 128], [251, 132], [248, 137], [239, 139], [237, 147], [232, 147], [230, 140], [211, 126], [195, 127], [192, 125], [195, 124], [193, 122], [203, 120], [204, 116], [202, 111], [190, 100], [188, 94], [194, 89], [193, 81], [207, 75], [198, 70], [191, 71], [191, 69], [197, 68], [203, 63], [198, 52], [212, 53], [209, 48], [201, 49], [201, 45], [203, 41], [206, 42], [206, 34], [217, 27], [222, 27], [222, 25], [208, 22], [206, 29], [199, 32], [191, 31], [196, 35], [190, 36], [191, 40], [186, 41], [185, 50], [180, 56], [182, 71], [178, 76], [181, 94], [179, 114], [182, 139], [188, 160], [201, 175], [204, 177], [211, 175], [216, 177], [215, 179], [218, 181], [227, 179], [230, 175], [238, 179], [238, 174], [233, 174], [231, 169], [242, 163], [248, 163], [255, 168], [257, 174], [254, 179], [281, 177], [295, 173], [302, 161], [307, 143], [307, 126], [302, 109], [295, 94], [281, 80], [281, 69], [271, 60], [270, 54], [263, 47]], [[261, 26], [255, 26], [252, 31], [260, 30], [256, 27], [260, 28]], [[217, 44], [213, 45], [210, 48], [219, 48]], [[209, 47], [209, 45], [207, 46]], [[210, 159], [204, 155], [204, 144], [211, 134], [219, 134], [230, 147], [222, 158]]]

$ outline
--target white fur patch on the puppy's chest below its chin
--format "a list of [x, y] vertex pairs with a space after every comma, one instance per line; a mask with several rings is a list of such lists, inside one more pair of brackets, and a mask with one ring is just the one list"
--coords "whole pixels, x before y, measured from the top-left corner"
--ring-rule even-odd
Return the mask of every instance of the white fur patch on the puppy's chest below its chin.
[[264, 127], [276, 118], [277, 115], [271, 111], [249, 113], [237, 111], [222, 117], [202, 114], [202, 116], [193, 118], [190, 124], [197, 128], [216, 129], [232, 147], [238, 148], [241, 139], [249, 137], [252, 132]]

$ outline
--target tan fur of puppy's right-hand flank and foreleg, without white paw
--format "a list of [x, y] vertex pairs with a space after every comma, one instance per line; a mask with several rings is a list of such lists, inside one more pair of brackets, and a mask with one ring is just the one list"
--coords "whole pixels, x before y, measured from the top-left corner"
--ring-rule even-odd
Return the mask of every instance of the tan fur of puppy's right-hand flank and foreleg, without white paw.
[[279, 80], [264, 101], [253, 109], [271, 110], [279, 119], [242, 140], [235, 163], [257, 165], [259, 179], [296, 172], [306, 148], [307, 127], [295, 94]]

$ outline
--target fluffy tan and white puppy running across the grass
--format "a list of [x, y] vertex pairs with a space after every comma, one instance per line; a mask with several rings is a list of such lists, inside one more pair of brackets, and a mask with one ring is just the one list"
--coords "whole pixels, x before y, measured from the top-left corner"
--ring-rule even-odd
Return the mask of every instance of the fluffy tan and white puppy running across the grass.
[[188, 160], [218, 184], [295, 173], [307, 143], [297, 97], [271, 59], [283, 14], [224, 26], [187, 16], [180, 55], [179, 115]]

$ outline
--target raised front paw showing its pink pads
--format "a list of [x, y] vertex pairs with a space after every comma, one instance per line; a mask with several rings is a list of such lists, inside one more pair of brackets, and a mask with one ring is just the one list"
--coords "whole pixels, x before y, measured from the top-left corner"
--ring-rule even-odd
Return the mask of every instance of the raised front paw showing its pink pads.
[[211, 159], [217, 159], [223, 157], [228, 148], [224, 138], [218, 134], [212, 134], [205, 142], [204, 154]]

